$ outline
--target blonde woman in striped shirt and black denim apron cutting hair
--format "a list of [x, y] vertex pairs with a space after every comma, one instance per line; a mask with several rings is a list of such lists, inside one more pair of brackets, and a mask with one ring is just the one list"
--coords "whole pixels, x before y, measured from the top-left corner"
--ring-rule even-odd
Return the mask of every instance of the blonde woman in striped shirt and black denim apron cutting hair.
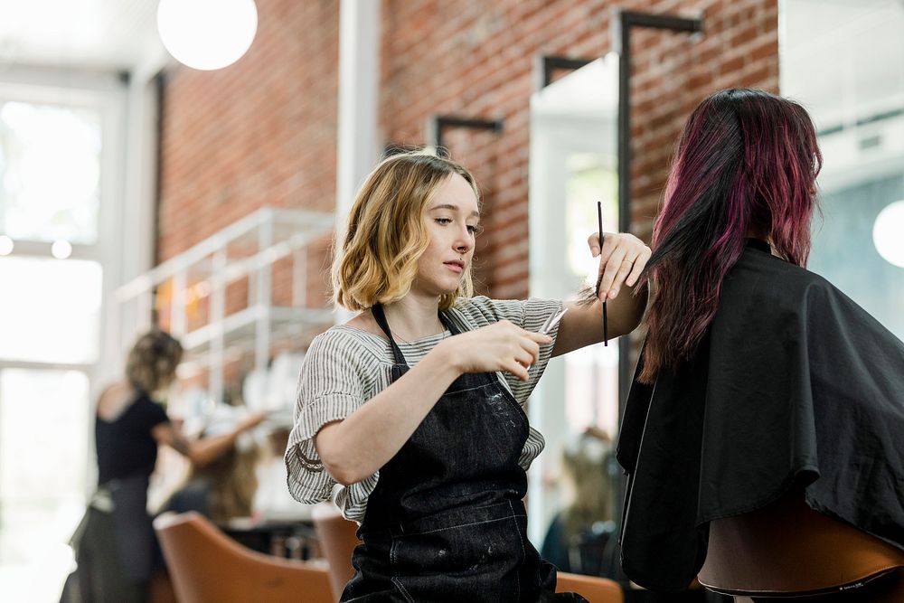
[[[383, 161], [358, 193], [334, 268], [335, 301], [360, 312], [307, 351], [286, 461], [292, 494], [336, 490], [361, 523], [344, 601], [535, 601], [555, 571], [527, 540], [526, 468], [543, 448], [523, 404], [553, 355], [602, 339], [599, 300], [471, 297], [478, 191], [432, 155]], [[609, 333], [639, 322], [649, 250], [606, 237]], [[596, 235], [589, 240], [600, 254]]]

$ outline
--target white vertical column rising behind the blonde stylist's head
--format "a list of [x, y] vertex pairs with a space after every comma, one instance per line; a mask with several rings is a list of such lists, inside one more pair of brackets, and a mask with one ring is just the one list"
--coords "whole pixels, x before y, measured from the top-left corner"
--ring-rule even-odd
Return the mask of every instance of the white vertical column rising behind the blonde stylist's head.
[[[339, 124], [336, 144], [336, 240], [354, 193], [380, 156], [377, 106], [380, 85], [380, 0], [342, 0], [339, 5]], [[336, 323], [351, 315], [340, 310]]]

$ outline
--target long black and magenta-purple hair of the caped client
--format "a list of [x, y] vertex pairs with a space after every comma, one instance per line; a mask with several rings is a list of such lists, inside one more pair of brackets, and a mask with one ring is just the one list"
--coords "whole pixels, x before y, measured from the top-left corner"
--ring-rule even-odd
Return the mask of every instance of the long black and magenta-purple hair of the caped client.
[[654, 382], [694, 353], [747, 237], [767, 237], [779, 256], [805, 266], [821, 166], [813, 121], [792, 100], [721, 90], [693, 110], [644, 274], [657, 293], [647, 313], [641, 382]]

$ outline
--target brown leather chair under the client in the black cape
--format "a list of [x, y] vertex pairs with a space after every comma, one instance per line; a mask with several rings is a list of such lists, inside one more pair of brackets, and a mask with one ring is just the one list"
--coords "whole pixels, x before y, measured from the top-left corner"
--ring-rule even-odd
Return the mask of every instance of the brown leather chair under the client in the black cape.
[[754, 513], [711, 522], [698, 579], [737, 601], [844, 593], [843, 600], [902, 603], [904, 551], [815, 512], [795, 490]]

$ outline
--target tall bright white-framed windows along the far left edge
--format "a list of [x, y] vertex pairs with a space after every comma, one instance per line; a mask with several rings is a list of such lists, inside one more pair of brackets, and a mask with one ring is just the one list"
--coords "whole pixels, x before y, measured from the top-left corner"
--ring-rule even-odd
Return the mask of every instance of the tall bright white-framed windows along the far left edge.
[[[59, 598], [71, 570], [66, 543], [85, 508], [94, 457], [89, 375], [100, 357], [101, 201], [109, 186], [103, 124], [111, 107], [95, 91], [0, 82], [3, 600]], [[57, 241], [72, 257], [53, 257]]]

